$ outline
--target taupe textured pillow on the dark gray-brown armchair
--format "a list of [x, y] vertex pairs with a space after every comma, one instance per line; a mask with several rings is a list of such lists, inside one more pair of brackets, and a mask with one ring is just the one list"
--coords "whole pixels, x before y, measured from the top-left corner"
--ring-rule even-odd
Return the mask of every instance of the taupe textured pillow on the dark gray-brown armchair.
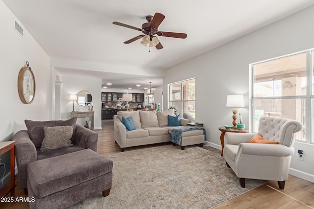
[[45, 138], [40, 150], [50, 150], [72, 146], [73, 144], [70, 139], [73, 135], [73, 128], [73, 125], [44, 127]]

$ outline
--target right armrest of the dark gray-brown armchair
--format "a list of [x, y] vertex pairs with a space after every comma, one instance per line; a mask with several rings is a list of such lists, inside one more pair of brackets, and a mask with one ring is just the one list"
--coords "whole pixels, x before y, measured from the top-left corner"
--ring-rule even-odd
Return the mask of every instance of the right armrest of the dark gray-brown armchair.
[[76, 125], [75, 142], [84, 149], [91, 149], [97, 152], [98, 134], [81, 125]]

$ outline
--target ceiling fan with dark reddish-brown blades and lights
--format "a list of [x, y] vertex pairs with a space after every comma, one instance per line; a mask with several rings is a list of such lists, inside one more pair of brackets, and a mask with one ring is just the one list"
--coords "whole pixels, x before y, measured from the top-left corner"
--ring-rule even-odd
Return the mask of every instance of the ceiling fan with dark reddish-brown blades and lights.
[[186, 38], [187, 35], [185, 33], [158, 31], [158, 26], [163, 21], [163, 19], [165, 19], [165, 16], [163, 14], [156, 12], [154, 16], [151, 16], [151, 15], [146, 16], [146, 20], [148, 23], [143, 23], [142, 28], [134, 27], [134, 26], [124, 24], [124, 23], [119, 23], [119, 22], [113, 22], [113, 24], [120, 25], [123, 27], [128, 27], [128, 28], [138, 30], [144, 33], [143, 35], [139, 35], [134, 38], [131, 38], [130, 40], [124, 42], [124, 44], [130, 44], [142, 38], [141, 44], [143, 46], [149, 45], [149, 47], [155, 46], [157, 49], [162, 49], [163, 46], [161, 45], [160, 41], [157, 39], [155, 35], [172, 37], [172, 38], [180, 38], [180, 39]]

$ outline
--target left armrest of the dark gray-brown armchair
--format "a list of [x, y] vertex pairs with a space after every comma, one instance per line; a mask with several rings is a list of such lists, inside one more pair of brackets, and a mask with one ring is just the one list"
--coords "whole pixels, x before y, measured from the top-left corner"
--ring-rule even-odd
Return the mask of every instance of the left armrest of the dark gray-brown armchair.
[[34, 143], [30, 140], [27, 130], [18, 131], [13, 139], [15, 140], [15, 158], [18, 167], [18, 181], [21, 189], [27, 187], [27, 165], [37, 161], [37, 150]]

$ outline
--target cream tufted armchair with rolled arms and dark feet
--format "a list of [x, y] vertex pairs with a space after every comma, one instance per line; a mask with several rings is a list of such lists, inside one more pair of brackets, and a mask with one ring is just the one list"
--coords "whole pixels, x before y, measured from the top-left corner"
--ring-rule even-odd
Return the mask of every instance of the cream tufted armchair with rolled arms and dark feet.
[[278, 181], [285, 188], [291, 156], [294, 153], [293, 135], [302, 130], [302, 124], [295, 120], [262, 116], [258, 133], [264, 139], [279, 144], [248, 143], [255, 136], [252, 133], [226, 133], [224, 159], [245, 187], [245, 179]]

